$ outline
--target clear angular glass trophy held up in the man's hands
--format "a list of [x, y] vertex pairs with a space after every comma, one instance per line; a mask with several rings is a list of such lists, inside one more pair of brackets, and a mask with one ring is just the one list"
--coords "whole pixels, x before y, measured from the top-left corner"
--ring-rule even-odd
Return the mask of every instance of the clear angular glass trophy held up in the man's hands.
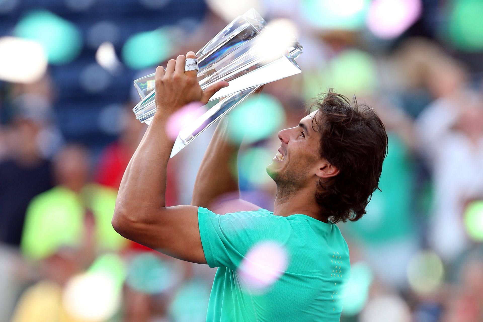
[[[211, 107], [179, 132], [170, 157], [261, 85], [301, 72], [295, 61], [302, 54], [297, 40], [289, 37], [289, 45], [274, 54], [267, 48], [265, 32], [267, 23], [252, 8], [235, 18], [196, 53], [202, 89], [219, 81], [230, 85], [216, 92], [207, 104]], [[133, 112], [138, 120], [149, 124], [156, 112], [155, 73], [135, 80], [134, 86], [141, 102]]]

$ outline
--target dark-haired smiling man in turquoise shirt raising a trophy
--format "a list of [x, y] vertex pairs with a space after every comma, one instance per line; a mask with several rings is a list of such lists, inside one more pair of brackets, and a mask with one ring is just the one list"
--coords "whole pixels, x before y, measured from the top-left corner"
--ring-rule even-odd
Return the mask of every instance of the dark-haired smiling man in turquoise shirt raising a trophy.
[[[122, 179], [114, 228], [170, 256], [219, 267], [207, 321], [339, 321], [350, 262], [335, 223], [365, 214], [386, 154], [384, 125], [366, 106], [351, 106], [333, 93], [321, 98], [316, 111], [278, 134], [281, 147], [267, 167], [277, 184], [269, 212], [239, 199], [205, 208], [216, 196], [238, 190], [227, 162], [236, 148], [223, 140], [227, 126], [222, 122], [203, 159], [193, 205], [165, 207], [173, 147], [165, 132], [169, 116], [191, 101], [206, 103], [228, 85], [220, 82], [203, 92], [196, 74], [185, 71], [182, 55], [171, 59], [166, 71], [157, 68], [157, 112]], [[238, 207], [237, 212], [221, 211], [230, 207]], [[283, 250], [275, 253], [284, 253], [286, 268], [270, 270], [256, 263], [254, 258], [263, 256], [247, 259], [266, 242]], [[255, 267], [255, 274], [278, 274], [279, 280], [261, 291], [239, 271], [241, 266]]]

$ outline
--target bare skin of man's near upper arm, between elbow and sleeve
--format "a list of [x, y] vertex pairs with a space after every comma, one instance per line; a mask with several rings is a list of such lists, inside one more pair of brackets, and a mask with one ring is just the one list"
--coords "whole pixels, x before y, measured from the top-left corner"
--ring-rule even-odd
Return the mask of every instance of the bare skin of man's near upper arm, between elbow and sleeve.
[[206, 264], [198, 227], [198, 207], [173, 206], [159, 210], [156, 221], [137, 229], [140, 244], [188, 262]]

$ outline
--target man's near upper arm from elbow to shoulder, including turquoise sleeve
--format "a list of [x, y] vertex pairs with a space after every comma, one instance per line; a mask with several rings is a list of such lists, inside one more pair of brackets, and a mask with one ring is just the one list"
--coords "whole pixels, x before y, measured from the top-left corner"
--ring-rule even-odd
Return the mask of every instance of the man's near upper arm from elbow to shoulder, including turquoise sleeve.
[[277, 227], [275, 217], [265, 212], [220, 215], [196, 206], [156, 211], [149, 216], [154, 221], [132, 224], [125, 237], [172, 257], [211, 267], [237, 269], [245, 253], [257, 241], [273, 237], [271, 232]]

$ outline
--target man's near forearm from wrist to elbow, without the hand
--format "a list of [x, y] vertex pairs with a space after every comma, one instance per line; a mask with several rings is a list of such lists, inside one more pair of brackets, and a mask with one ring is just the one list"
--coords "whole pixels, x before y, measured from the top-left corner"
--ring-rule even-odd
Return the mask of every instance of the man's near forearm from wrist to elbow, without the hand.
[[166, 118], [157, 114], [124, 172], [113, 222], [124, 214], [130, 221], [149, 220], [144, 216], [150, 210], [166, 206], [166, 168], [174, 141], [166, 135]]

